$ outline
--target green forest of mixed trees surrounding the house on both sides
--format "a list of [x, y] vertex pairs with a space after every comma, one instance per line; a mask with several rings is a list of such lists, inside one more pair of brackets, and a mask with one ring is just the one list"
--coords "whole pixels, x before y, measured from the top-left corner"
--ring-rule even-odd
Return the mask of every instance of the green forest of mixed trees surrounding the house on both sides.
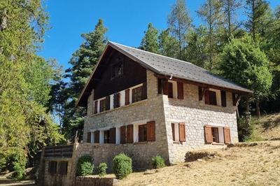
[[[272, 9], [265, 0], [204, 0], [197, 10], [203, 24], [195, 25], [187, 3], [170, 7], [162, 17], [166, 29], [149, 23], [136, 47], [253, 90], [239, 101], [239, 140], [245, 141], [253, 131], [251, 115], [280, 111], [280, 4]], [[0, 1], [0, 171], [13, 170], [18, 179], [43, 146], [73, 143], [76, 133], [82, 140], [86, 110], [75, 103], [110, 39], [99, 19], [81, 34], [71, 68], [62, 71], [55, 59], [38, 55], [48, 29], [41, 0]]]

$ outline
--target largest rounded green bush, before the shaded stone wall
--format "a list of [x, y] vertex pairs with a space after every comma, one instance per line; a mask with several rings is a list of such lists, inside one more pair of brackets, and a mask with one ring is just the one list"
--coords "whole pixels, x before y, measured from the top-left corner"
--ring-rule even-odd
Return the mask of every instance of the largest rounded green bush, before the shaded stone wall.
[[120, 153], [113, 158], [113, 171], [116, 178], [123, 179], [132, 173], [132, 159], [124, 153]]

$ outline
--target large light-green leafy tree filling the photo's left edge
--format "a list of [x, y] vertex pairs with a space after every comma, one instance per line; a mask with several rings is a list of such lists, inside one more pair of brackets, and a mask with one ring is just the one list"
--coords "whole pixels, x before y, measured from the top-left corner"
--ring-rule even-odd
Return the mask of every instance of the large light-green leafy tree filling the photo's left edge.
[[[22, 177], [27, 157], [63, 136], [46, 106], [53, 63], [36, 55], [48, 29], [48, 15], [40, 0], [0, 3], [0, 159]], [[14, 153], [20, 161], [9, 159]]]

